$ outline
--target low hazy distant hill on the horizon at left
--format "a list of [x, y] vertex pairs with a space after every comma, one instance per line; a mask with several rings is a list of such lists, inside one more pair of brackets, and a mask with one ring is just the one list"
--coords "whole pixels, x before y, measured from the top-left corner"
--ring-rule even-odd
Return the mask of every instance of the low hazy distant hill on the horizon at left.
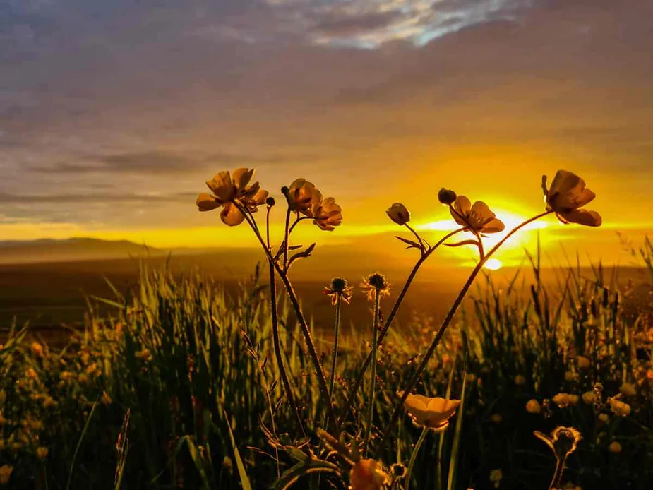
[[129, 256], [162, 256], [168, 251], [127, 240], [71, 238], [0, 241], [0, 263], [91, 261]]

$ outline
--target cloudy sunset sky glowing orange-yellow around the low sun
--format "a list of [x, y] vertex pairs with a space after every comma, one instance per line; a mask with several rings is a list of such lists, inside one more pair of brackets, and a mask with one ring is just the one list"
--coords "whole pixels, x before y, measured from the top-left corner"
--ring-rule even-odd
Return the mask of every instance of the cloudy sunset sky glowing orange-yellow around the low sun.
[[396, 232], [396, 201], [437, 239], [442, 186], [513, 225], [568, 169], [604, 224], [548, 217], [544, 247], [625, 260], [616, 232], [653, 229], [651, 18], [649, 0], [1, 0], [0, 240], [256, 246], [195, 205], [237, 167], [336, 198], [342, 226], [301, 239]]

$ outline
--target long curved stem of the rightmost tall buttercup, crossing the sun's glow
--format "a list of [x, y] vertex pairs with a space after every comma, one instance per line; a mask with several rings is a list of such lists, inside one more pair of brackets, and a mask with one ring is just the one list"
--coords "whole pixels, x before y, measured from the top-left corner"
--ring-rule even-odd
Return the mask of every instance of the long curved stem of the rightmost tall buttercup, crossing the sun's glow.
[[424, 372], [424, 369], [426, 369], [426, 365], [429, 364], [429, 361], [431, 360], [433, 353], [436, 352], [436, 347], [438, 347], [438, 343], [443, 337], [445, 330], [451, 323], [451, 320], [453, 319], [453, 316], [455, 315], [458, 306], [460, 306], [460, 303], [462, 303], [462, 299], [465, 298], [465, 295], [467, 294], [469, 287], [472, 286], [474, 279], [476, 279], [479, 272], [481, 272], [483, 265], [485, 265], [486, 261], [488, 261], [488, 259], [493, 255], [493, 253], [495, 253], [499, 249], [499, 247], [501, 247], [505, 243], [505, 241], [508, 240], [510, 237], [512, 237], [513, 234], [515, 234], [518, 230], [522, 229], [529, 223], [534, 222], [535, 220], [538, 220], [539, 218], [549, 215], [551, 213], [552, 211], [545, 211], [544, 213], [540, 213], [539, 215], [529, 218], [528, 220], [521, 223], [520, 225], [517, 225], [515, 228], [510, 230], [510, 232], [507, 235], [505, 235], [505, 237], [503, 237], [503, 239], [501, 239], [501, 241], [499, 241], [498, 244], [493, 246], [493, 248], [486, 254], [486, 256], [484, 256], [484, 258], [481, 261], [479, 261], [479, 263], [477, 263], [476, 267], [474, 267], [474, 270], [472, 270], [472, 273], [469, 275], [467, 282], [465, 282], [465, 285], [462, 287], [462, 289], [460, 289], [460, 293], [458, 293], [457, 298], [455, 299], [453, 305], [449, 309], [449, 312], [447, 313], [447, 316], [442, 322], [442, 325], [438, 329], [438, 332], [436, 333], [435, 337], [433, 337], [429, 349], [426, 351], [426, 354], [424, 354], [424, 357], [422, 357], [421, 363], [417, 367], [417, 371], [415, 371], [412, 378], [410, 378], [410, 381], [408, 382], [408, 385], [405, 388], [401, 399], [397, 402], [397, 405], [395, 405], [395, 411], [393, 412], [393, 416], [390, 417], [390, 422], [388, 423], [388, 427], [386, 427], [385, 432], [383, 433], [383, 437], [381, 438], [381, 442], [376, 448], [377, 455], [379, 451], [381, 451], [381, 448], [383, 448], [383, 444], [388, 440], [388, 437], [390, 436], [390, 430], [392, 429], [392, 426], [395, 424], [395, 422], [397, 422], [397, 419], [399, 418], [399, 414], [401, 412], [402, 406], [404, 405], [404, 402], [406, 401], [406, 398], [408, 398], [409, 393], [417, 384], [417, 381], [419, 381], [419, 378], [421, 374]]

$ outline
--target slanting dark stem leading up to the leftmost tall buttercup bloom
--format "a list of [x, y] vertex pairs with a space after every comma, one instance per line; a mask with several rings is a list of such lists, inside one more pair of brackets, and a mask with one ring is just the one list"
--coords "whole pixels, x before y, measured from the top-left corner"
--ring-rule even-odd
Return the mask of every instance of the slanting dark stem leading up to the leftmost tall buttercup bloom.
[[286, 292], [288, 293], [290, 303], [292, 304], [292, 308], [294, 309], [297, 317], [297, 323], [299, 323], [299, 328], [301, 328], [301, 333], [304, 334], [304, 342], [306, 342], [306, 347], [308, 348], [308, 356], [311, 358], [311, 362], [313, 363], [313, 369], [315, 369], [316, 374], [318, 376], [318, 386], [320, 388], [320, 394], [322, 396], [322, 400], [326, 405], [327, 415], [329, 417], [330, 422], [333, 424], [333, 426], [337, 431], [337, 429], [340, 427], [340, 424], [338, 424], [337, 419], [335, 417], [335, 411], [333, 410], [333, 404], [331, 403], [329, 388], [326, 384], [326, 379], [324, 377], [322, 364], [320, 363], [320, 358], [318, 357], [318, 353], [315, 349], [315, 343], [313, 342], [313, 336], [311, 335], [311, 330], [308, 329], [308, 323], [306, 323], [306, 318], [304, 317], [304, 313], [301, 311], [301, 306], [299, 306], [299, 299], [297, 299], [297, 295], [294, 292], [292, 283], [290, 282], [286, 271], [284, 271], [277, 263], [277, 261], [275, 261], [275, 258], [272, 257], [272, 253], [270, 253], [270, 249], [268, 249], [268, 247], [265, 246], [265, 241], [263, 241], [263, 237], [261, 237], [260, 235], [260, 231], [256, 226], [256, 220], [254, 220], [253, 215], [251, 215], [251, 213], [249, 213], [249, 211], [246, 210], [241, 205], [239, 205], [239, 210], [241, 211], [241, 213], [244, 214], [245, 219], [248, 222], [248, 225], [250, 225], [254, 234], [256, 234], [258, 241], [260, 241], [260, 244], [263, 246], [263, 250], [265, 251], [265, 255], [268, 258], [268, 262], [272, 264], [273, 268], [277, 271], [277, 274], [281, 278], [281, 281], [284, 284]]

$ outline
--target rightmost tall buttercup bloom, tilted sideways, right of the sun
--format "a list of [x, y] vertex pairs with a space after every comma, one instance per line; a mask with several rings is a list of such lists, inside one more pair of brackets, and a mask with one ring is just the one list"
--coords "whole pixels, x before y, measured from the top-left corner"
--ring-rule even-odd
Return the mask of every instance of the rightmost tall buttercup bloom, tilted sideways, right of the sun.
[[576, 174], [567, 170], [558, 170], [551, 182], [551, 189], [546, 189], [546, 175], [543, 175], [542, 191], [544, 191], [546, 210], [556, 213], [561, 222], [586, 226], [601, 225], [599, 213], [580, 209], [592, 201], [596, 194], [587, 189], [585, 181]]

